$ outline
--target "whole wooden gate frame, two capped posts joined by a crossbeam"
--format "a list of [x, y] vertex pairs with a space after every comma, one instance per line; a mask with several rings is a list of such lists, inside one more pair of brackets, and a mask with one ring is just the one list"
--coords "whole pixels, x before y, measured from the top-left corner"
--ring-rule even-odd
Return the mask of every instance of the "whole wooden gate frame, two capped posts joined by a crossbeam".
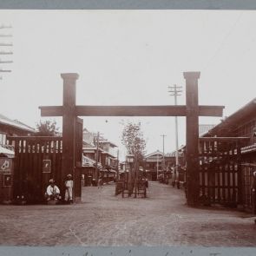
[[75, 174], [75, 167], [80, 167], [82, 162], [82, 159], [75, 157], [77, 116], [186, 116], [187, 205], [196, 206], [200, 198], [199, 116], [222, 116], [224, 107], [199, 106], [200, 72], [184, 72], [183, 75], [186, 79], [185, 106], [76, 106], [75, 83], [78, 74], [62, 74], [63, 105], [39, 107], [42, 116], [62, 116], [62, 180], [67, 174]]

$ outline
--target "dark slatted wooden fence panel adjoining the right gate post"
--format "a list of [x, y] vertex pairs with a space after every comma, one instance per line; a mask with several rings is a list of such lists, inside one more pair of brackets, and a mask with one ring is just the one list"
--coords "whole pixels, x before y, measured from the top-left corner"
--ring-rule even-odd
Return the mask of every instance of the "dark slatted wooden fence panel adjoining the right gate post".
[[240, 148], [246, 138], [200, 138], [200, 200], [204, 204], [242, 204]]

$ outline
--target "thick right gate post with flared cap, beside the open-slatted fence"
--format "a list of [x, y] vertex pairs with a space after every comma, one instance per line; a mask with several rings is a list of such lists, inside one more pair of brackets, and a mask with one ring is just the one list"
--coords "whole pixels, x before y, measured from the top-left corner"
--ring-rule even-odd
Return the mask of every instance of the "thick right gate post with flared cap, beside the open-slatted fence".
[[200, 72], [184, 72], [187, 102], [187, 205], [195, 207], [199, 203], [199, 105], [198, 79]]

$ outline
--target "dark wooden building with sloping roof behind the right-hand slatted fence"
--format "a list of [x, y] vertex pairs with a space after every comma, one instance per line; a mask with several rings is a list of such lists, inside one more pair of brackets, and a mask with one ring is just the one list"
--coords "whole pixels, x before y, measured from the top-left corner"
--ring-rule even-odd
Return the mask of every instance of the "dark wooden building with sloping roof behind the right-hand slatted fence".
[[253, 172], [256, 171], [256, 98], [223, 119], [204, 137], [246, 137], [240, 142], [240, 190], [243, 207], [253, 210]]

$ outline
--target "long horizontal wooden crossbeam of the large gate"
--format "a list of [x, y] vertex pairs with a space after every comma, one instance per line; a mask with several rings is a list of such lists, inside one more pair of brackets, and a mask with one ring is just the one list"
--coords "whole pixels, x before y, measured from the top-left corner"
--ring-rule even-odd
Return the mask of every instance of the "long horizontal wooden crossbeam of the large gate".
[[[62, 116], [62, 106], [39, 107], [42, 116]], [[199, 106], [200, 116], [222, 116], [224, 106]], [[186, 106], [75, 106], [76, 116], [187, 116]]]

